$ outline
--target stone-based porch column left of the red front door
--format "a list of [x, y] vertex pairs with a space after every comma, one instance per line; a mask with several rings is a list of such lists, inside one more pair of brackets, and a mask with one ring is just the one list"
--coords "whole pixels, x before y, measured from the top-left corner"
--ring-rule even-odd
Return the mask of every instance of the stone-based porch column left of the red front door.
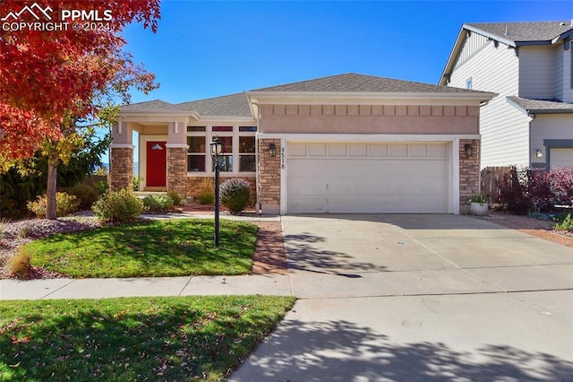
[[109, 188], [116, 191], [133, 187], [133, 140], [132, 129], [126, 122], [114, 127], [114, 141], [110, 146]]

